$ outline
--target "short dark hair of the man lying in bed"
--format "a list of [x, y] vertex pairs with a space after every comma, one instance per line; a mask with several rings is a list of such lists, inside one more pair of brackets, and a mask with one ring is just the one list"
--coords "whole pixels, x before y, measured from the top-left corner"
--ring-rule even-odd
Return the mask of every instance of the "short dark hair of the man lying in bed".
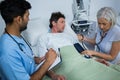
[[64, 18], [64, 19], [65, 19], [64, 14], [62, 14], [61, 12], [53, 12], [53, 13], [51, 14], [51, 18], [50, 18], [50, 20], [49, 20], [49, 22], [50, 22], [49, 27], [52, 28], [52, 27], [53, 27], [52, 21], [57, 22], [59, 18]]

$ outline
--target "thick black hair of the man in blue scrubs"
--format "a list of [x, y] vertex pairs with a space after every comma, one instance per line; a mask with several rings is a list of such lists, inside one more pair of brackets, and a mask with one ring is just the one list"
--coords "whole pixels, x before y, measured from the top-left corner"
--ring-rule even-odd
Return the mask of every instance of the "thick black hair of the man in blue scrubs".
[[23, 17], [31, 5], [26, 0], [4, 0], [0, 3], [1, 16], [5, 23], [12, 23], [17, 16]]

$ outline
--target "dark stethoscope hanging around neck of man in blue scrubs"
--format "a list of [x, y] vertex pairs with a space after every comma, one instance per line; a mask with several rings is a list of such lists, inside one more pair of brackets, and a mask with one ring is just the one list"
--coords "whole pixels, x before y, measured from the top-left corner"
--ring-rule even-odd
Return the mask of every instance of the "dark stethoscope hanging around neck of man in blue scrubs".
[[[22, 49], [22, 47], [20, 46], [21, 44], [18, 43], [18, 42], [7, 32], [6, 29], [5, 29], [5, 32], [8, 34], [8, 36], [9, 36], [10, 38], [12, 38], [12, 40], [18, 45], [19, 49], [20, 49], [23, 53], [25, 53], [29, 58], [34, 58], [33, 53], [32, 53], [32, 55], [27, 54], [27, 53]], [[21, 36], [21, 37], [22, 37], [22, 36]], [[31, 50], [31, 52], [32, 52], [32, 49], [31, 49], [30, 45], [28, 44], [28, 42], [26, 42], [26, 40], [25, 40], [23, 37], [22, 37], [22, 39], [25, 41], [25, 43], [28, 45], [28, 47], [30, 48], [30, 50]]]

